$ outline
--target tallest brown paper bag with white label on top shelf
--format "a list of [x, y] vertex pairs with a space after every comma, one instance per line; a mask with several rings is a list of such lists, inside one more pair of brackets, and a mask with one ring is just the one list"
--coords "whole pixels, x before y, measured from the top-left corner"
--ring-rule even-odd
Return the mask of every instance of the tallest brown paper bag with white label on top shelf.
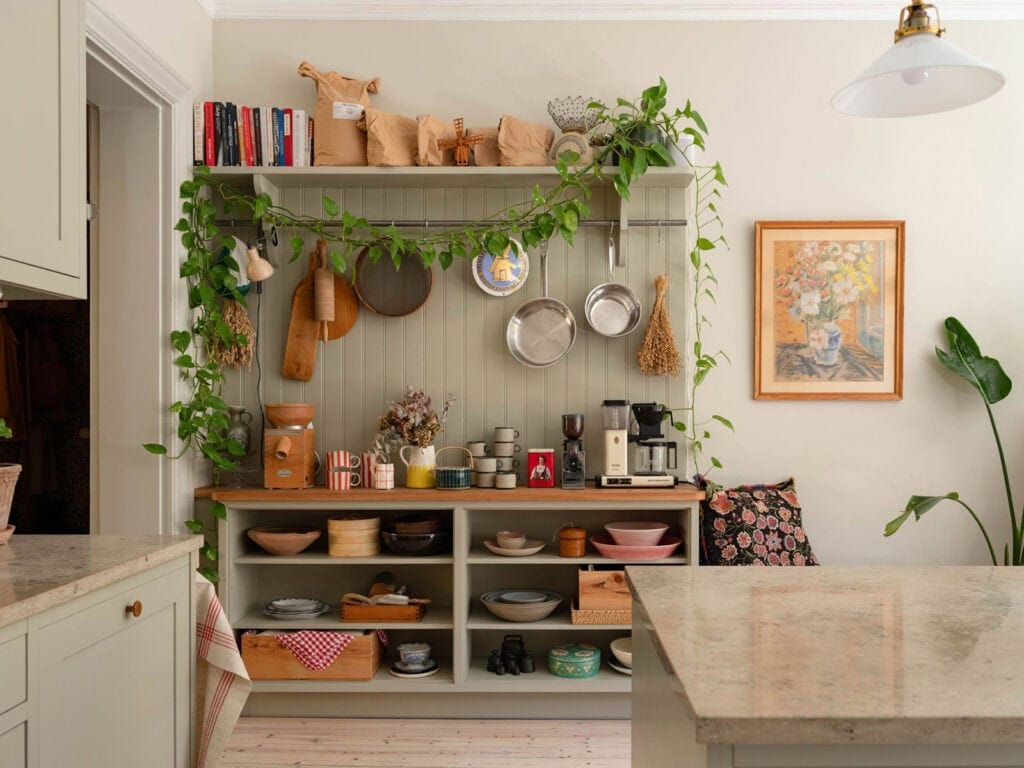
[[299, 65], [299, 75], [316, 84], [313, 165], [366, 165], [367, 134], [357, 124], [371, 105], [370, 94], [380, 88], [380, 78], [353, 80], [337, 72], [319, 72], [308, 61]]

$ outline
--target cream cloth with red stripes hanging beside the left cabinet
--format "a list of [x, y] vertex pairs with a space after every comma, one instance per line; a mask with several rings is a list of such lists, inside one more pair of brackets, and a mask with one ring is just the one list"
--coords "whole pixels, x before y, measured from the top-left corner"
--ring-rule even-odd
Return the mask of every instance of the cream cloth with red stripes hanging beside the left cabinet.
[[196, 760], [216, 768], [252, 683], [213, 585], [196, 574]]

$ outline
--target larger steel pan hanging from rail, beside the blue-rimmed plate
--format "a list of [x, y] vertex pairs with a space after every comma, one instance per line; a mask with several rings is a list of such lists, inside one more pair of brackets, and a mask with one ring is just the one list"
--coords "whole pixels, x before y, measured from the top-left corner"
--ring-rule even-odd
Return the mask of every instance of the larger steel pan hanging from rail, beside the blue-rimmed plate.
[[530, 368], [553, 366], [572, 348], [575, 317], [558, 299], [548, 297], [548, 241], [541, 243], [541, 281], [544, 295], [515, 310], [505, 331], [512, 356]]

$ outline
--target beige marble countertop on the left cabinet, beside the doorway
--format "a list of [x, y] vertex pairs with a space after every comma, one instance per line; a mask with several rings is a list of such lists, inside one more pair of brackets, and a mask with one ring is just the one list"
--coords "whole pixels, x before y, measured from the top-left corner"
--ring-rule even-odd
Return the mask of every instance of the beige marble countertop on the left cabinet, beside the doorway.
[[23, 536], [0, 546], [0, 627], [198, 550], [201, 536]]

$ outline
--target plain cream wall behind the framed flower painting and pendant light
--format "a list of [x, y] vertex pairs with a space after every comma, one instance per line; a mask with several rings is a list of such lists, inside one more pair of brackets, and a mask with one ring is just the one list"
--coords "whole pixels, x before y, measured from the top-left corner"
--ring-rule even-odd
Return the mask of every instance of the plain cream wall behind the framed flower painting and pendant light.
[[[632, 97], [658, 75], [693, 100], [730, 187], [732, 250], [718, 255], [710, 343], [732, 357], [701, 389], [725, 414], [725, 482], [798, 478], [807, 527], [827, 563], [982, 563], [966, 514], [940, 508], [893, 540], [882, 527], [912, 492], [958, 489], [1006, 538], [991, 438], [973, 391], [931, 352], [959, 316], [1024, 377], [1024, 289], [1015, 223], [1024, 200], [1024, 24], [956, 23], [949, 39], [1004, 68], [1008, 86], [969, 110], [869, 121], [834, 113], [831, 93], [891, 40], [880, 23], [214, 23], [213, 91], [237, 102], [310, 106], [302, 58], [381, 76], [385, 110], [467, 123], [511, 112], [546, 119], [566, 93]], [[752, 399], [753, 225], [757, 219], [907, 221], [905, 388], [899, 402]], [[685, 258], [680, 251], [679, 258]], [[649, 299], [648, 299], [649, 303]], [[578, 311], [581, 307], [577, 307]], [[1024, 469], [1024, 398], [996, 407], [1013, 470]], [[1020, 488], [1024, 495], [1024, 486]], [[1021, 497], [1024, 499], [1024, 496]]]

